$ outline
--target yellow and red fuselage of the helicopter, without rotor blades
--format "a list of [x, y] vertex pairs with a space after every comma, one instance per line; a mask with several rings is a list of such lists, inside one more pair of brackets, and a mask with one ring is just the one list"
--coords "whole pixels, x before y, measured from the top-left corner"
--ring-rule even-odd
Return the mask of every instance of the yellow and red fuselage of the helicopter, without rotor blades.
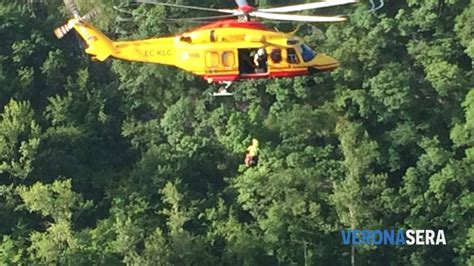
[[[173, 36], [135, 41], [111, 41], [88, 22], [74, 28], [88, 44], [86, 52], [100, 61], [122, 60], [171, 65], [208, 82], [303, 76], [331, 71], [339, 62], [314, 52], [290, 33], [266, 28], [257, 21], [223, 20]], [[266, 64], [254, 64], [263, 48]]]

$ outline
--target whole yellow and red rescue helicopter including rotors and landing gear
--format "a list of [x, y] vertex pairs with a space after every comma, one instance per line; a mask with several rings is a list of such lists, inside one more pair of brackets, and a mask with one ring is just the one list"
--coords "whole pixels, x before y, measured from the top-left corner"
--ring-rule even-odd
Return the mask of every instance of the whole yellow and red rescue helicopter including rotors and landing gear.
[[327, 0], [266, 9], [254, 8], [246, 0], [236, 0], [237, 9], [214, 9], [147, 0], [135, 2], [219, 12], [226, 15], [205, 17], [220, 20], [173, 37], [113, 41], [89, 22], [97, 15], [96, 9], [81, 16], [74, 0], [64, 0], [73, 18], [55, 29], [54, 33], [60, 39], [70, 30], [76, 30], [87, 44], [86, 53], [96, 60], [104, 61], [113, 57], [175, 66], [201, 76], [209, 83], [226, 84], [215, 95], [231, 95], [226, 89], [234, 81], [296, 77], [331, 71], [339, 66], [336, 59], [323, 53], [316, 53], [297, 36], [269, 29], [253, 18], [339, 22], [346, 18], [287, 13], [349, 4], [356, 0]]

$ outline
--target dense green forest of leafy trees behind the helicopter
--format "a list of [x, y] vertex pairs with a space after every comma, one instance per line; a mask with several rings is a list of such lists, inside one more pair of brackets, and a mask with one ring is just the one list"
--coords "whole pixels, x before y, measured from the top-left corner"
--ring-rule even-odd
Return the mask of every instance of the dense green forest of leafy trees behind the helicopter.
[[[114, 40], [209, 15], [76, 2], [99, 7], [92, 23]], [[57, 40], [71, 17], [60, 0], [2, 0], [0, 264], [474, 265], [474, 0], [371, 8], [266, 23], [341, 66], [212, 97], [217, 85], [179, 69], [97, 62], [75, 34]], [[444, 230], [447, 245], [343, 245], [351, 228]]]

